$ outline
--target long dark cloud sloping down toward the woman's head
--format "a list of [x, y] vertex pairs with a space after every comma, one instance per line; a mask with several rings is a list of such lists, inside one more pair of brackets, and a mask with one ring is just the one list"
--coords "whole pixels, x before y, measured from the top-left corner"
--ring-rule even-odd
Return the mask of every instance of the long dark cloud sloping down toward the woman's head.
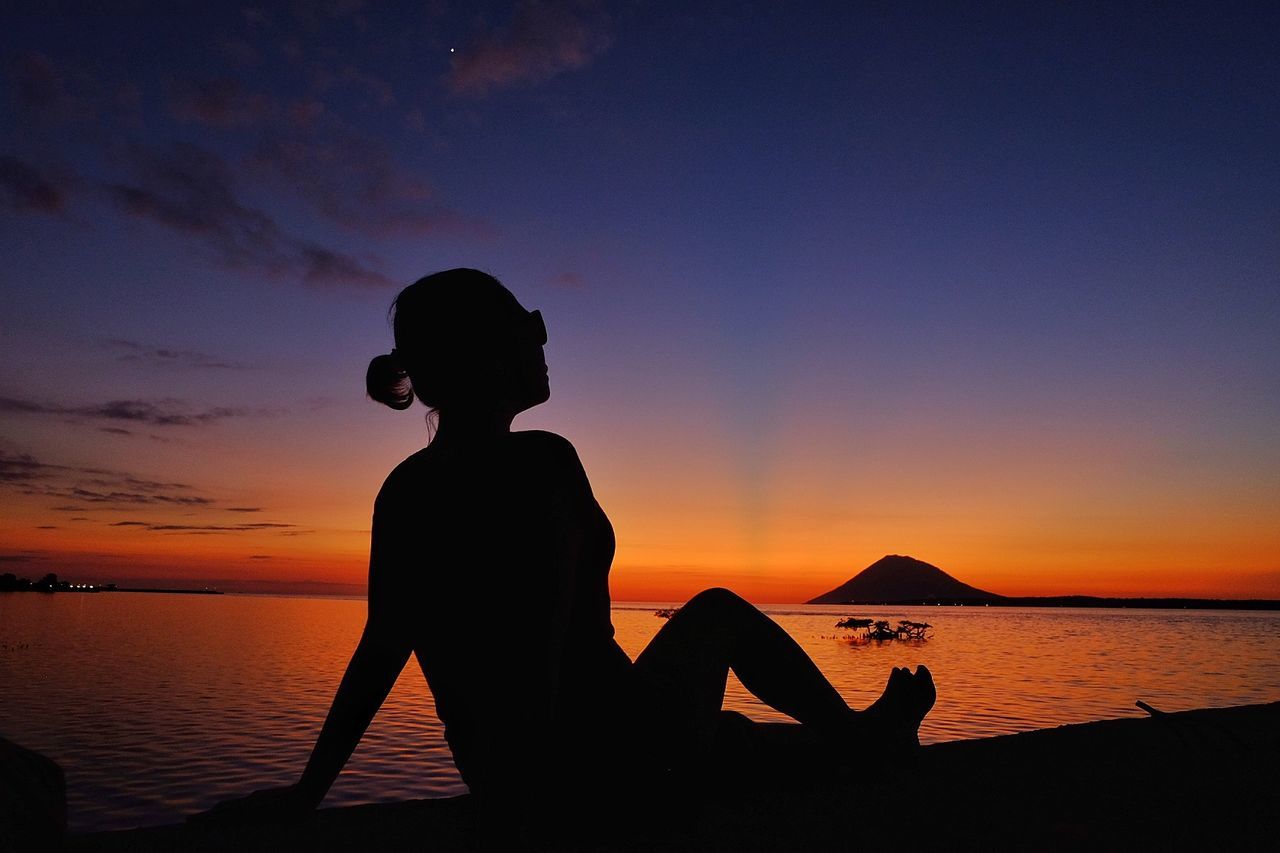
[[349, 255], [285, 233], [261, 210], [241, 202], [230, 169], [196, 145], [134, 147], [133, 181], [104, 182], [124, 213], [200, 240], [224, 266], [294, 277], [314, 287], [390, 287], [389, 278]]

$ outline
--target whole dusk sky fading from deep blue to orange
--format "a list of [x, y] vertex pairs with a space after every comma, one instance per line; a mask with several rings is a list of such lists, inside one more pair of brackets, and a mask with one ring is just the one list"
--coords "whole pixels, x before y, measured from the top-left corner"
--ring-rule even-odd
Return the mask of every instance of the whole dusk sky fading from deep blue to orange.
[[[616, 599], [1280, 598], [1280, 8], [14, 3], [0, 571], [352, 592], [498, 275]], [[430, 548], [429, 542], [424, 542]]]

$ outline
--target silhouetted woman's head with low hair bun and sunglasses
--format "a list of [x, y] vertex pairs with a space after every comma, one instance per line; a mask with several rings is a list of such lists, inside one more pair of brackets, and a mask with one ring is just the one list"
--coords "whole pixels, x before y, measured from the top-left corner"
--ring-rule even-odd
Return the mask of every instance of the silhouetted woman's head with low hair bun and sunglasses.
[[392, 304], [396, 348], [369, 362], [369, 396], [408, 409], [524, 411], [550, 396], [541, 315], [493, 275], [451, 269], [421, 278]]

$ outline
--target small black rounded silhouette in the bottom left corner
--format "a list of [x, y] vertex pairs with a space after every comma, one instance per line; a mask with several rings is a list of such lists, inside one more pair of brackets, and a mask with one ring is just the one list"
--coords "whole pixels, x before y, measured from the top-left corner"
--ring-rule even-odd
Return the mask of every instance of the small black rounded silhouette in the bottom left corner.
[[65, 833], [61, 767], [0, 738], [0, 850], [51, 849]]

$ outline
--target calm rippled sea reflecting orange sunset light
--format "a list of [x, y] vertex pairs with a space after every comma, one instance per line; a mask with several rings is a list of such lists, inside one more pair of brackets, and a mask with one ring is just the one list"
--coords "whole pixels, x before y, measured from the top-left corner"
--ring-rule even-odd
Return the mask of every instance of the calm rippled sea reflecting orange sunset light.
[[[663, 621], [620, 605], [635, 656]], [[924, 742], [1280, 699], [1280, 612], [768, 607], [854, 707], [892, 666], [927, 663]], [[841, 616], [933, 625], [920, 643], [852, 644]], [[521, 619], [493, 613], [518, 662]], [[67, 772], [73, 830], [123, 829], [287, 784], [306, 762], [364, 626], [352, 599], [0, 594], [0, 735]], [[512, 695], [513, 706], [521, 697]], [[727, 707], [782, 720], [731, 683]], [[463, 792], [411, 662], [326, 806]]]

